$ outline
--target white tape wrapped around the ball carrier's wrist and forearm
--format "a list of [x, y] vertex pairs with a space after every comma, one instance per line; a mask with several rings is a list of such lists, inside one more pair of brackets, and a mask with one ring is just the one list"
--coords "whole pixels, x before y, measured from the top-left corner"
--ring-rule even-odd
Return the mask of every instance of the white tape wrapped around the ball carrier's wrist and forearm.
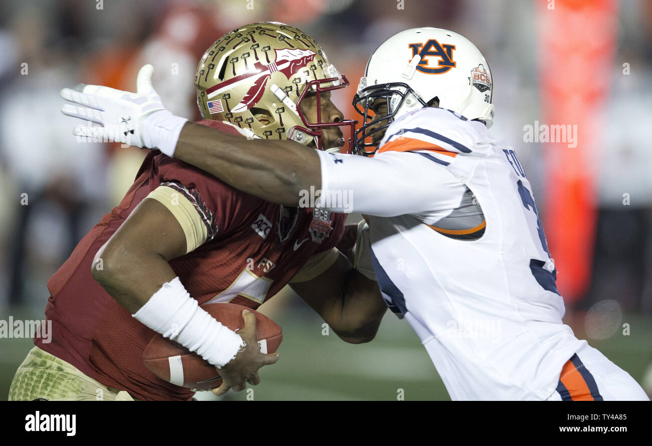
[[239, 349], [246, 346], [235, 331], [200, 308], [179, 277], [164, 283], [133, 316], [216, 367], [231, 361]]

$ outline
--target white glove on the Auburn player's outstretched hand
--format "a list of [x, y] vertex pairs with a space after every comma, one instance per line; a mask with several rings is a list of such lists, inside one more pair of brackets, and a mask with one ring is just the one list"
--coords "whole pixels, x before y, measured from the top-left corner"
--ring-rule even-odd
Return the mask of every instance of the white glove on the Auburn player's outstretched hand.
[[150, 64], [140, 69], [136, 93], [84, 84], [74, 90], [61, 90], [61, 97], [69, 101], [63, 104], [61, 112], [85, 122], [85, 125], [76, 126], [73, 133], [82, 141], [89, 138], [158, 148], [173, 156], [187, 119], [172, 115], [163, 106], [152, 87], [153, 72]]

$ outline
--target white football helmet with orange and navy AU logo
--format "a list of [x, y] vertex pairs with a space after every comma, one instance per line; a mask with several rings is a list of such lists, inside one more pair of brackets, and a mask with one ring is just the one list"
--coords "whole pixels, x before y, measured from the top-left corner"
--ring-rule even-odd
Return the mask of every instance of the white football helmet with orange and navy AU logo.
[[[373, 146], [364, 140], [396, 118], [439, 100], [439, 107], [452, 110], [487, 127], [494, 121], [492, 77], [479, 49], [466, 37], [439, 28], [413, 28], [385, 40], [367, 63], [353, 99], [363, 116], [356, 132], [359, 154]], [[370, 113], [374, 100], [387, 100], [387, 115]], [[377, 126], [380, 121], [385, 125]], [[374, 128], [369, 128], [374, 126]]]

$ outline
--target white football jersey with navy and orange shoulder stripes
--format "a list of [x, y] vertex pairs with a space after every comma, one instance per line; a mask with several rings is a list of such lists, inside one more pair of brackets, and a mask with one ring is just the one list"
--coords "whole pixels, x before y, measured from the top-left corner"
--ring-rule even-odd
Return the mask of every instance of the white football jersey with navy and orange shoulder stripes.
[[[371, 215], [383, 298], [415, 329], [451, 398], [553, 395], [586, 341], [561, 322], [554, 262], [511, 146], [481, 122], [428, 107], [395, 120], [372, 159], [319, 156], [322, 189], [348, 191], [346, 210]], [[484, 216], [476, 240], [437, 227], [466, 188]]]

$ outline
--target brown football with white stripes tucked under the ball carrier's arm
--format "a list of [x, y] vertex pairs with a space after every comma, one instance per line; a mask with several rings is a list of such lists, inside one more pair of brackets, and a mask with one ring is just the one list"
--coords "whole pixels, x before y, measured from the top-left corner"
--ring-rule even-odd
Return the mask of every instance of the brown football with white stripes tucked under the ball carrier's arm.
[[[207, 303], [201, 308], [234, 331], [244, 327], [243, 310], [256, 314], [256, 336], [263, 353], [276, 352], [283, 339], [280, 326], [258, 311], [233, 303]], [[176, 385], [190, 389], [214, 389], [222, 385], [222, 378], [213, 365], [158, 333], [147, 344], [143, 362], [153, 374]]]

